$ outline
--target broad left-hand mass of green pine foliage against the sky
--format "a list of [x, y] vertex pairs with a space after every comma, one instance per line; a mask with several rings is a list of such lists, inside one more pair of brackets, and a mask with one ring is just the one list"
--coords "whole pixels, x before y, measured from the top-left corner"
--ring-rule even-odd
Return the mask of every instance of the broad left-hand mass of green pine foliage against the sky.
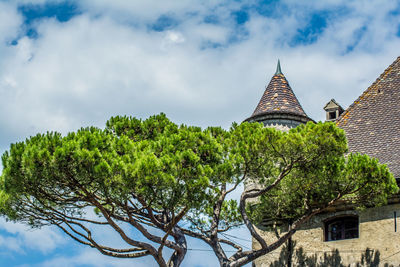
[[[11, 145], [3, 157], [1, 211], [26, 221], [31, 206], [82, 212], [96, 195], [118, 209], [140, 198], [154, 209], [198, 209], [232, 180], [218, 128], [177, 126], [164, 114], [145, 121], [115, 117], [105, 130], [80, 129], [62, 137], [39, 134]], [[214, 195], [213, 195], [214, 194]], [[29, 223], [45, 223], [34, 216]]]

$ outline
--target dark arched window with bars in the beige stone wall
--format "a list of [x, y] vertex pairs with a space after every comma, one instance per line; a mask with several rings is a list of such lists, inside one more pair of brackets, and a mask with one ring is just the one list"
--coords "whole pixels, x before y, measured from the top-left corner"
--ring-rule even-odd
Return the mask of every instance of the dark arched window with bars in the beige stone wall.
[[358, 238], [358, 217], [337, 217], [325, 222], [325, 241]]

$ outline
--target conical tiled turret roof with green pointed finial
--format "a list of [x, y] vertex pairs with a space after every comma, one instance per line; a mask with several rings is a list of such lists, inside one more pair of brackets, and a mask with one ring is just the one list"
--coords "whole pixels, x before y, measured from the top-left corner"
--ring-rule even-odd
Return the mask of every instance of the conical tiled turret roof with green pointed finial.
[[304, 112], [285, 75], [283, 75], [279, 60], [275, 75], [272, 76], [260, 102], [249, 119], [272, 113], [290, 114], [311, 120]]

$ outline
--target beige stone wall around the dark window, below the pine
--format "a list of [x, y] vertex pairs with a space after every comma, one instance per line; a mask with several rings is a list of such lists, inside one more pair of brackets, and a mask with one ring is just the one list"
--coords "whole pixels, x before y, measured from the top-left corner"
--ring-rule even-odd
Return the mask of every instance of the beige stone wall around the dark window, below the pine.
[[[400, 266], [400, 220], [397, 218], [395, 232], [394, 212], [400, 215], [400, 204], [315, 216], [292, 238], [292, 266]], [[324, 221], [347, 214], [359, 216], [359, 238], [324, 241]], [[259, 231], [269, 243], [276, 240], [273, 232]], [[253, 241], [253, 247], [259, 247], [258, 243]], [[287, 254], [283, 246], [257, 259], [254, 265], [287, 266]]]

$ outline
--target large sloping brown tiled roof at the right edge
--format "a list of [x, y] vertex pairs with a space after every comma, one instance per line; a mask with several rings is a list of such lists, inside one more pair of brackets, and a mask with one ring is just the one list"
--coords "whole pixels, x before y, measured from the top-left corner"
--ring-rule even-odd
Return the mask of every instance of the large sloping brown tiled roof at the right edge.
[[378, 158], [400, 178], [400, 57], [337, 120], [349, 150]]

